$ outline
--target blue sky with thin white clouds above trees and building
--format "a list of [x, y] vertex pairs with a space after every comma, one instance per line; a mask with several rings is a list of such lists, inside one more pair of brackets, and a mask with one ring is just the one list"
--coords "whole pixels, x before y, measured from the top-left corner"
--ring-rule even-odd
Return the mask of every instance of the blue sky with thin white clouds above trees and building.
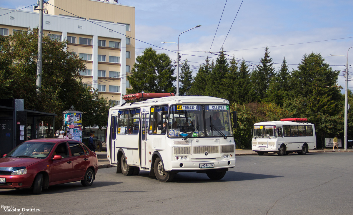
[[[0, 7], [22, 8], [36, 2], [37, 0], [0, 0]], [[346, 56], [348, 48], [353, 46], [353, 38], [348, 38], [353, 37], [351, 27], [353, 1], [244, 0], [242, 4], [241, 0], [118, 0], [118, 2], [135, 7], [136, 39], [167, 50], [176, 51], [177, 45], [161, 42], [178, 42], [181, 32], [198, 24], [202, 25], [181, 34], [179, 41], [181, 59], [188, 59], [195, 72], [207, 56], [211, 59], [216, 58], [214, 54], [207, 52], [218, 52], [223, 42], [223, 48], [229, 56], [244, 58], [249, 65], [258, 64], [259, 59], [263, 57], [264, 47], [269, 46], [276, 69], [283, 57], [286, 57], [290, 69], [297, 69], [303, 55], [314, 52], [321, 53], [325, 62], [334, 70], [344, 70], [345, 57], [327, 55]], [[235, 18], [240, 4], [239, 13]], [[29, 8], [31, 11], [32, 7]], [[220, 21], [223, 8], [225, 9]], [[136, 53], [140, 54], [147, 47], [150, 45], [137, 41]], [[172, 60], [176, 59], [173, 52], [153, 48], [158, 52], [167, 53]], [[350, 52], [349, 65], [353, 63], [353, 48]], [[353, 75], [353, 69], [351, 70], [350, 75]], [[349, 79], [351, 80], [348, 81], [348, 87], [353, 90], [353, 83], [350, 83], [353, 82], [353, 78], [350, 76]], [[338, 83], [345, 87], [342, 72]]]

